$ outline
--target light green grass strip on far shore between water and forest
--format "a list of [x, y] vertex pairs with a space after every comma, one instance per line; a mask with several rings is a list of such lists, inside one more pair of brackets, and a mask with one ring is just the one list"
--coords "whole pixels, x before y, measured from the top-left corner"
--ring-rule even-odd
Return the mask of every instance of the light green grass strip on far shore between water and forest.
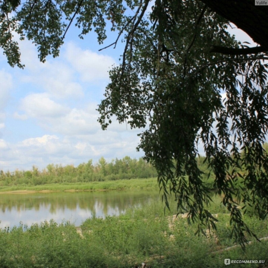
[[157, 178], [107, 180], [87, 183], [51, 183], [36, 186], [0, 186], [2, 192], [27, 192], [27, 191], [106, 191], [106, 190], [131, 190], [158, 188]]

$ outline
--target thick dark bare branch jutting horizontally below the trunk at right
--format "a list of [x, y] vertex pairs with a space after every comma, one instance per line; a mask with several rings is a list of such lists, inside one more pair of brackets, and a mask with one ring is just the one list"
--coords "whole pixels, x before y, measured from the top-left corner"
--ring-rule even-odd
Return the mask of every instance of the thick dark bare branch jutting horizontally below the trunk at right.
[[255, 46], [250, 48], [232, 48], [224, 46], [212, 46], [210, 52], [228, 54], [228, 55], [247, 55], [247, 54], [256, 54], [259, 52], [267, 52], [268, 49], [262, 46]]

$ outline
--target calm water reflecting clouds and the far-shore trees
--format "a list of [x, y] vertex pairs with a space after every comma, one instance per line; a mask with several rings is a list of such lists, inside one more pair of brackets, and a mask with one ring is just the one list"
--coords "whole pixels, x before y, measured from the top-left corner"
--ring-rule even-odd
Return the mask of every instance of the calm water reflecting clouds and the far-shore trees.
[[159, 198], [158, 190], [0, 194], [0, 228], [50, 219], [79, 226], [93, 211], [98, 217], [119, 215]]

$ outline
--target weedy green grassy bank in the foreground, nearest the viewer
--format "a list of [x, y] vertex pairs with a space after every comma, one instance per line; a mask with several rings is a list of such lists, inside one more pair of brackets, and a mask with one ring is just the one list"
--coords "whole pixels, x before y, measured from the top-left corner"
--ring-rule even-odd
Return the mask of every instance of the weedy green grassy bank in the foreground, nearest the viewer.
[[[217, 200], [216, 200], [217, 201]], [[0, 267], [225, 267], [224, 259], [268, 261], [268, 242], [254, 242], [217, 252], [230, 245], [229, 215], [218, 207], [217, 231], [195, 236], [187, 219], [163, 216], [163, 204], [154, 202], [121, 216], [86, 220], [77, 230], [53, 221], [0, 231]], [[220, 211], [220, 212], [219, 212]], [[245, 215], [259, 237], [268, 234], [267, 221]], [[265, 267], [232, 264], [232, 267]]]

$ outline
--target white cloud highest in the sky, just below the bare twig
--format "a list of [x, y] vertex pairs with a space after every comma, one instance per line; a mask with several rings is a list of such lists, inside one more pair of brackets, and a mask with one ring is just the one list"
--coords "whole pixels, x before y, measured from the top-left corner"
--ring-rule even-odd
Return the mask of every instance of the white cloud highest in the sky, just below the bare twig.
[[87, 82], [108, 80], [109, 67], [115, 63], [110, 56], [82, 50], [73, 43], [68, 43], [66, 46], [66, 58], [80, 73], [82, 80]]

